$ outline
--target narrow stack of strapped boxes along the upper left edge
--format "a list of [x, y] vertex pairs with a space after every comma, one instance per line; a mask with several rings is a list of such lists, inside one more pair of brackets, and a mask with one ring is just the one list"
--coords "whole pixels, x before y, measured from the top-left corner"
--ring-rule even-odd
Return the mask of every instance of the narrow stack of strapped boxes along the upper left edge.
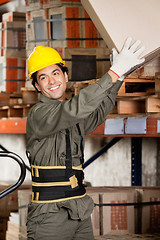
[[25, 13], [9, 12], [0, 23], [0, 91], [18, 92], [25, 86]]

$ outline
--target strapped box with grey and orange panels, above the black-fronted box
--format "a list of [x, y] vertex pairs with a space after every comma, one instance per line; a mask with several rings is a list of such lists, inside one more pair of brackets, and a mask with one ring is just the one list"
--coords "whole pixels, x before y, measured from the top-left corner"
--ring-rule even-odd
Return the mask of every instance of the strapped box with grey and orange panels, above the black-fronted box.
[[87, 12], [81, 6], [51, 8], [51, 47], [106, 46]]

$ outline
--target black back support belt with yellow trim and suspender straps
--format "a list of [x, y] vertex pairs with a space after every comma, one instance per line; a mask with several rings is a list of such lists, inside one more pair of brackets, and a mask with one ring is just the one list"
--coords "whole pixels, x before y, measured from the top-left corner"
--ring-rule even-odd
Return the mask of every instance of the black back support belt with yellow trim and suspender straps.
[[[78, 132], [81, 130], [77, 124]], [[72, 167], [69, 129], [66, 132], [65, 166], [34, 166], [32, 168], [32, 202], [58, 202], [85, 196], [82, 167]], [[81, 136], [81, 163], [83, 163], [83, 137]]]

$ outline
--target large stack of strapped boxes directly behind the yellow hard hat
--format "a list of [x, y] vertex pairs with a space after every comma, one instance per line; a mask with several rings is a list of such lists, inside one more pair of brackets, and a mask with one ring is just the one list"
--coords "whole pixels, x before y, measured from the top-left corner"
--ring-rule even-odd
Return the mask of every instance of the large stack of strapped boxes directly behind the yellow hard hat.
[[39, 45], [55, 48], [66, 61], [69, 79], [101, 77], [109, 50], [80, 0], [26, 1], [27, 57]]

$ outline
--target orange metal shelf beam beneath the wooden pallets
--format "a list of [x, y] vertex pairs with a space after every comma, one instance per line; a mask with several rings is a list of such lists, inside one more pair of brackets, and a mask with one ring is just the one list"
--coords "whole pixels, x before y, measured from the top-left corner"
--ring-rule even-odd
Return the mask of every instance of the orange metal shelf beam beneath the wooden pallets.
[[[111, 117], [111, 116], [109, 116]], [[0, 119], [0, 134], [26, 134], [27, 118], [2, 118]], [[98, 126], [95, 131], [86, 137], [160, 137], [158, 124], [160, 123], [160, 114], [157, 117], [148, 117], [146, 119], [146, 134], [104, 134], [105, 123]], [[124, 128], [126, 119], [124, 118]]]

